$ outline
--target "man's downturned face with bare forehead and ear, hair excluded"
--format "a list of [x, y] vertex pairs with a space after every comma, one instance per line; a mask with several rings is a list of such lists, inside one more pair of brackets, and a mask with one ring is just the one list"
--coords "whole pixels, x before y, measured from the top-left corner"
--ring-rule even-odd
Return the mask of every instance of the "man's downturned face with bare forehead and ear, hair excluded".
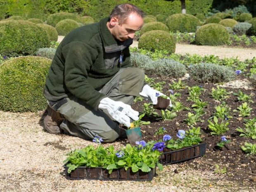
[[118, 19], [117, 19], [117, 23], [112, 28], [111, 33], [115, 39], [120, 41], [125, 41], [128, 38], [133, 39], [135, 36], [135, 31], [140, 30], [142, 25], [143, 25], [142, 17], [140, 17], [135, 13], [132, 13], [128, 17], [128, 19], [121, 25], [119, 25]]

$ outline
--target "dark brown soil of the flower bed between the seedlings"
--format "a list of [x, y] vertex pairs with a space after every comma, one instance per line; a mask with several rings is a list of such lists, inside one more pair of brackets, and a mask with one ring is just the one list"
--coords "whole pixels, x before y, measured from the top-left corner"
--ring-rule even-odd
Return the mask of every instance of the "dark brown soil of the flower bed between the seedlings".
[[[249, 71], [249, 70], [247, 70]], [[173, 79], [171, 78], [164, 78], [164, 77], [157, 77], [157, 76], [149, 76], [150, 78], [155, 78], [155, 82], [158, 81], [165, 81], [165, 87], [161, 91], [163, 93], [168, 93], [168, 83], [173, 84]], [[243, 75], [238, 76], [237, 79], [249, 79], [246, 76], [246, 73], [243, 73]], [[249, 81], [253, 81], [249, 79]], [[175, 80], [175, 82], [178, 82], [178, 80]], [[246, 156], [246, 153], [244, 153], [241, 149], [241, 145], [244, 145], [244, 142], [250, 142], [255, 143], [255, 140], [252, 140], [251, 138], [247, 137], [240, 137], [239, 132], [236, 130], [236, 128], [244, 128], [244, 118], [246, 119], [253, 119], [256, 114], [256, 104], [252, 102], [247, 102], [250, 104], [251, 110], [251, 116], [248, 117], [239, 117], [238, 112], [233, 112], [234, 109], [237, 109], [239, 105], [242, 105], [243, 102], [237, 100], [237, 96], [233, 95], [232, 92], [238, 92], [238, 90], [241, 90], [247, 95], [252, 95], [251, 100], [256, 102], [256, 83], [252, 82], [253, 89], [246, 90], [244, 88], [224, 88], [231, 94], [229, 95], [227, 99], [223, 100], [226, 102], [228, 107], [230, 107], [229, 115], [232, 116], [228, 120], [229, 122], [229, 130], [226, 133], [223, 133], [222, 135], [211, 135], [211, 130], [208, 128], [208, 119], [213, 115], [214, 112], [216, 112], [216, 109], [214, 107], [218, 106], [221, 102], [214, 100], [211, 97], [211, 91], [212, 88], [216, 88], [216, 85], [213, 83], [198, 83], [194, 81], [192, 78], [187, 78], [185, 80], [182, 80], [183, 83], [186, 83], [187, 86], [192, 87], [194, 85], [202, 85], [202, 88], [205, 89], [205, 91], [202, 91], [201, 96], [199, 97], [202, 101], [208, 102], [209, 106], [204, 108], [204, 111], [206, 114], [201, 116], [201, 119], [204, 120], [204, 122], [198, 122], [195, 127], [201, 127], [201, 137], [204, 139], [204, 141], [207, 142], [206, 146], [206, 155], [201, 156], [197, 158], [196, 160], [199, 161], [193, 161], [189, 160], [185, 163], [190, 164], [195, 169], [200, 169], [202, 171], [204, 170], [215, 170], [215, 164], [218, 164], [220, 167], [227, 168], [227, 173], [225, 176], [229, 180], [237, 180], [241, 182], [246, 182], [249, 185], [255, 185], [256, 184], [256, 155], [249, 155]], [[194, 112], [192, 109], [192, 104], [194, 102], [187, 101], [188, 97], [188, 88], [184, 88], [182, 90], [174, 90], [174, 92], [179, 92], [181, 95], [178, 97], [178, 102], [183, 104], [185, 107], [190, 107], [190, 111], [179, 111], [176, 112], [177, 116], [171, 120], [171, 121], [162, 121], [162, 120], [156, 120], [156, 117], [154, 116], [144, 116], [142, 118], [143, 121], [150, 121], [151, 123], [149, 125], [142, 125], [142, 140], [150, 141], [150, 140], [161, 140], [164, 134], [171, 135], [174, 139], [177, 138], [176, 134], [179, 129], [188, 130], [189, 126], [184, 122], [184, 119], [187, 119], [188, 112]], [[132, 107], [133, 109], [137, 111], [143, 110], [144, 103], [147, 102], [146, 100], [137, 101], [133, 103]], [[159, 110], [155, 110], [158, 112], [159, 116], [161, 116], [161, 113]], [[155, 135], [156, 131], [160, 127], [166, 128], [166, 133], [161, 135]], [[216, 146], [218, 142], [221, 140], [221, 136], [226, 135], [228, 140], [231, 140], [230, 143], [227, 143], [225, 147], [219, 148]], [[183, 162], [184, 163], [184, 162]]]

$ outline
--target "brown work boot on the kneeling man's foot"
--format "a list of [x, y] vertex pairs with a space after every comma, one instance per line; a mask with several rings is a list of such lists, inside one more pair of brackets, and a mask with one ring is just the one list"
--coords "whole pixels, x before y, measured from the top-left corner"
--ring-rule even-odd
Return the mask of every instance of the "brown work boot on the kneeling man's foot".
[[62, 118], [62, 115], [59, 112], [53, 110], [49, 106], [47, 107], [47, 112], [47, 116], [43, 120], [45, 129], [51, 134], [61, 134], [62, 130], [59, 128], [59, 125], [64, 118]]

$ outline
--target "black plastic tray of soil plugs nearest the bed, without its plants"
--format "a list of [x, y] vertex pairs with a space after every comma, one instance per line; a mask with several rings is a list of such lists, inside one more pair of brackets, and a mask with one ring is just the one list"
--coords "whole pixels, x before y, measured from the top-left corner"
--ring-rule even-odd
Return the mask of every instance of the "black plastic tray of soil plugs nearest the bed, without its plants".
[[206, 153], [206, 144], [206, 142], [203, 142], [191, 147], [175, 150], [164, 148], [163, 154], [159, 157], [159, 162], [163, 165], [167, 165], [203, 156]]

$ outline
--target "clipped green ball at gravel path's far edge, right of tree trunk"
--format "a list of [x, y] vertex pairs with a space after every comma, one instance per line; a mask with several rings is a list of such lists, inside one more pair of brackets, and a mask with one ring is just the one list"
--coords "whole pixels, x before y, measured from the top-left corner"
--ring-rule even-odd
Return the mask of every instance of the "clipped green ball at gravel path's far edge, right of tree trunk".
[[220, 24], [205, 24], [195, 34], [196, 45], [224, 45], [228, 40], [227, 29]]

